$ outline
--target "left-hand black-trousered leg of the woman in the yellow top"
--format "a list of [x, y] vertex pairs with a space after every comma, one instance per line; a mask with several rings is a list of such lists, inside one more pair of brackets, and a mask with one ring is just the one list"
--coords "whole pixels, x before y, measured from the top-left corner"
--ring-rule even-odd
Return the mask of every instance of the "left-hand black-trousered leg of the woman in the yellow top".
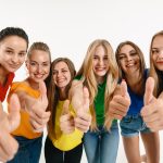
[[63, 163], [63, 151], [57, 149], [52, 141], [47, 137], [45, 143], [45, 159], [46, 163]]

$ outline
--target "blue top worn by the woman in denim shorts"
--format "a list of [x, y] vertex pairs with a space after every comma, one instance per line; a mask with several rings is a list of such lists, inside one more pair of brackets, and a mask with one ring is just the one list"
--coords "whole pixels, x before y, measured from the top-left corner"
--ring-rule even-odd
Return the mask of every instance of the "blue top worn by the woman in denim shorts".
[[[148, 70], [145, 71], [145, 82], [147, 80], [147, 77], [148, 77]], [[136, 95], [135, 92], [131, 91], [131, 89], [128, 86], [127, 90], [131, 102], [127, 115], [136, 115], [140, 113], [140, 110], [143, 106], [143, 96]]]

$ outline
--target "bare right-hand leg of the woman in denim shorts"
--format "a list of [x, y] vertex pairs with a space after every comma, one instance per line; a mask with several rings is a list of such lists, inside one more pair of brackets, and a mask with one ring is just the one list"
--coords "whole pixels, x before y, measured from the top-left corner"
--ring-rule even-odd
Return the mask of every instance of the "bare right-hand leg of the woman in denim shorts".
[[159, 133], [141, 133], [141, 138], [145, 145], [147, 162], [160, 162], [160, 139]]

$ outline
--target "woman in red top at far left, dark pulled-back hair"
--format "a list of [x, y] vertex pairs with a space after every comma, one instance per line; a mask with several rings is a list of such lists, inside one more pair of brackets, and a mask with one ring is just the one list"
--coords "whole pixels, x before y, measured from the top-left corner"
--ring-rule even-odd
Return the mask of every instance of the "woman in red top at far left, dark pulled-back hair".
[[[14, 72], [16, 72], [25, 61], [27, 48], [28, 36], [22, 28], [7, 27], [0, 32], [0, 103], [5, 99], [7, 91], [14, 78]], [[12, 112], [7, 115], [2, 106], [0, 111], [0, 161], [2, 162], [11, 160], [18, 147], [10, 133], [14, 130], [20, 123], [18, 109], [14, 108], [15, 105], [18, 106], [20, 102], [15, 96], [11, 98], [11, 100], [12, 104], [10, 105]], [[10, 116], [12, 118], [9, 121]], [[4, 139], [7, 141], [4, 141]]]

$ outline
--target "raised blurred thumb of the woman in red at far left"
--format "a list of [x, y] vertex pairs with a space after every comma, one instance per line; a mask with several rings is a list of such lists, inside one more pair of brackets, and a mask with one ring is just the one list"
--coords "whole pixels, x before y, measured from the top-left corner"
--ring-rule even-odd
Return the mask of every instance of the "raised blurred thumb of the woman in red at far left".
[[9, 124], [10, 124], [10, 131], [13, 131], [14, 129], [17, 128], [20, 121], [21, 121], [21, 115], [20, 115], [20, 100], [17, 95], [13, 93], [10, 98], [9, 101]]

